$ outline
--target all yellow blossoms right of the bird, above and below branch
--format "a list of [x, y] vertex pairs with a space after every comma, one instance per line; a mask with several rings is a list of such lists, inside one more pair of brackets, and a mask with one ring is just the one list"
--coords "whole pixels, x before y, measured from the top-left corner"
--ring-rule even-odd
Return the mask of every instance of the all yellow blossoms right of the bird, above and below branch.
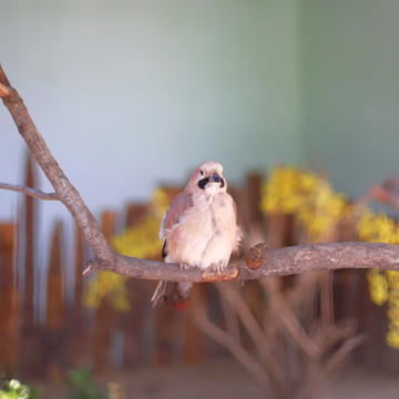
[[[399, 224], [386, 214], [349, 204], [317, 174], [293, 166], [274, 167], [263, 186], [260, 208], [265, 214], [295, 215], [310, 242], [325, 241], [341, 217], [358, 216], [359, 241], [399, 245]], [[370, 269], [367, 273], [370, 297], [377, 305], [388, 305], [387, 344], [399, 348], [399, 272]]]

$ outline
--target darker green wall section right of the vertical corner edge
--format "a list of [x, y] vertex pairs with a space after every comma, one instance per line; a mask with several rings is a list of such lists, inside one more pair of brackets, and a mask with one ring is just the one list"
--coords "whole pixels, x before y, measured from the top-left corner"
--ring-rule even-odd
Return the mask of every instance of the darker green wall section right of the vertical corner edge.
[[351, 195], [399, 173], [399, 1], [303, 0], [304, 161]]

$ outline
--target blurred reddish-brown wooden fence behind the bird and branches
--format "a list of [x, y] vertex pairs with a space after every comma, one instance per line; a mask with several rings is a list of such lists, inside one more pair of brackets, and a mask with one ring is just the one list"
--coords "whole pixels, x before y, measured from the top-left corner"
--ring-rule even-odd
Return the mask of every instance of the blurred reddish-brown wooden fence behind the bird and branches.
[[[25, 185], [34, 187], [35, 183], [32, 161], [28, 158]], [[263, 218], [259, 211], [260, 183], [259, 175], [250, 175], [245, 187], [231, 190], [239, 209], [239, 224], [245, 232], [252, 233], [265, 226], [275, 228], [280, 234], [280, 245], [295, 244], [289, 218], [286, 217], [284, 223], [278, 216]], [[177, 188], [168, 192], [173, 196]], [[200, 361], [226, 354], [186, 316], [184, 307], [151, 307], [155, 282], [127, 279], [131, 308], [126, 313], [115, 310], [106, 297], [98, 309], [88, 309], [82, 303], [88, 278], [81, 273], [86, 250], [79, 231], [74, 234], [74, 280], [70, 282], [73, 298], [68, 300], [64, 293], [71, 287], [66, 286], [62, 270], [64, 248], [60, 222], [54, 224], [51, 235], [48, 275], [41, 276], [35, 285], [38, 273], [33, 258], [39, 239], [34, 231], [34, 202], [31, 197], [23, 197], [18, 221], [0, 224], [0, 371], [10, 377], [57, 379], [71, 368], [86, 367], [104, 374], [141, 365]], [[146, 212], [146, 204], [130, 204], [120, 214], [104, 212], [102, 229], [111, 237], [116, 221], [122, 218], [124, 226], [133, 226]], [[283, 231], [282, 225], [285, 226]], [[17, 265], [22, 265], [23, 270]], [[22, 276], [23, 285], [20, 284]], [[47, 290], [44, 324], [35, 317], [34, 287]], [[246, 300], [253, 301], [250, 307], [255, 311], [259, 297], [257, 289], [250, 283], [246, 287]], [[386, 309], [370, 301], [365, 272], [336, 272], [332, 289], [336, 319], [355, 318], [358, 330], [369, 335], [355, 359], [397, 371], [398, 355], [385, 344]], [[190, 306], [201, 303], [208, 308], [209, 317], [214, 320], [221, 318], [223, 304], [212, 284], [195, 285], [194, 297]]]

